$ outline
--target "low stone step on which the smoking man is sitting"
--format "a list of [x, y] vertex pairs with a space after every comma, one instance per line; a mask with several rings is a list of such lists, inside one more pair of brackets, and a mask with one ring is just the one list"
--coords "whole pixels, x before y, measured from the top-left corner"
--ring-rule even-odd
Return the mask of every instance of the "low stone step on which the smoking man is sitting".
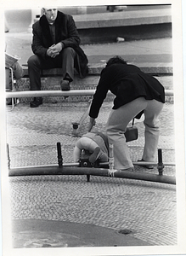
[[[173, 89], [173, 77], [172, 77], [172, 66], [168, 64], [161, 66], [158, 64], [155, 66], [154, 63], [146, 63], [147, 65], [141, 64], [138, 67], [144, 73], [149, 73], [155, 76], [162, 84], [164, 84], [166, 90]], [[99, 77], [105, 64], [94, 64], [88, 67], [88, 74], [85, 79], [80, 79], [76, 74], [74, 81], [70, 84], [71, 90], [95, 90], [99, 82]], [[24, 77], [17, 81], [17, 91], [30, 90], [28, 70], [24, 67]], [[60, 90], [60, 80], [61, 80], [61, 70], [59, 68], [54, 68], [50, 70], [42, 71], [42, 90]], [[69, 96], [65, 98], [64, 96], [48, 96], [43, 98], [43, 102], [87, 102], [93, 96]], [[106, 101], [113, 100], [114, 96], [108, 95]], [[31, 99], [27, 97], [20, 98], [20, 102], [30, 102]], [[166, 96], [166, 102], [172, 102], [173, 96]]]

